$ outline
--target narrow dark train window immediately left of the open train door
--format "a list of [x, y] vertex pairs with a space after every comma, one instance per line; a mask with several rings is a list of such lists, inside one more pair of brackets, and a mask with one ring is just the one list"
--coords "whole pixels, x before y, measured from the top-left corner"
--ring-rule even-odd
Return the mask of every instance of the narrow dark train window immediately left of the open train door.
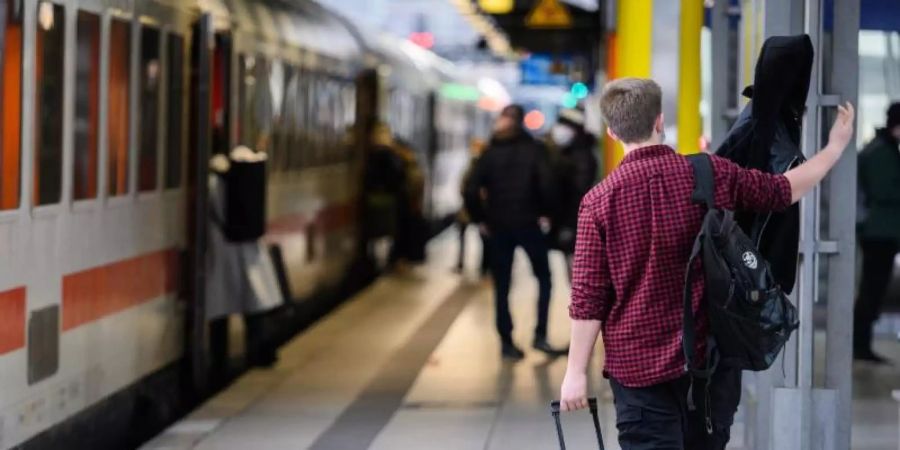
[[169, 55], [166, 67], [166, 188], [172, 189], [181, 185], [181, 161], [184, 155], [184, 37], [170, 34], [166, 47]]

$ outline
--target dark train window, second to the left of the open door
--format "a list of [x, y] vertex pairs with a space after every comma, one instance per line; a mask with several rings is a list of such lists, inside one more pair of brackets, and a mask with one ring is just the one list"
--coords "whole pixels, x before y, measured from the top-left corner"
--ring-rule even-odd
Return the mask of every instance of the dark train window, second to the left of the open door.
[[149, 26], [141, 28], [140, 77], [140, 153], [138, 158], [138, 190], [156, 189], [159, 148], [159, 80], [160, 32]]

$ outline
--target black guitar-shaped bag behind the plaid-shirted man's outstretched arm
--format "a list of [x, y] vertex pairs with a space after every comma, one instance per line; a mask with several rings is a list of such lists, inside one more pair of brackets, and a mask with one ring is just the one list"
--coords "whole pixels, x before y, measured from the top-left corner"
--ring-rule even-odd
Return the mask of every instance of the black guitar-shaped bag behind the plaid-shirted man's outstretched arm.
[[[809, 36], [767, 39], [756, 63], [754, 85], [744, 90], [752, 100], [716, 154], [768, 173], [784, 173], [802, 163], [800, 133], [812, 62]], [[799, 206], [773, 214], [739, 213], [738, 220], [758, 243], [776, 281], [790, 293], [797, 274]]]

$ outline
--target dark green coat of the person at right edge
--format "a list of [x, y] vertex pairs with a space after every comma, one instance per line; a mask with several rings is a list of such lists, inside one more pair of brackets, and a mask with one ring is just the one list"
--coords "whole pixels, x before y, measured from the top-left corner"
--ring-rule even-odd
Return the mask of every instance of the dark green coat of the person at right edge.
[[859, 189], [865, 214], [859, 235], [863, 240], [900, 242], [900, 148], [887, 130], [859, 153]]

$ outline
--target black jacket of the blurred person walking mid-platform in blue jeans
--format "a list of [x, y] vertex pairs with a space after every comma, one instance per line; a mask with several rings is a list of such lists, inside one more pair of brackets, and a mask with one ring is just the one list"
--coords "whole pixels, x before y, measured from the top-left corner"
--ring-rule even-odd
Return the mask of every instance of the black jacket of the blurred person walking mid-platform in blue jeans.
[[492, 139], [465, 188], [472, 220], [492, 230], [536, 226], [541, 216], [553, 216], [554, 199], [547, 149], [524, 131]]

